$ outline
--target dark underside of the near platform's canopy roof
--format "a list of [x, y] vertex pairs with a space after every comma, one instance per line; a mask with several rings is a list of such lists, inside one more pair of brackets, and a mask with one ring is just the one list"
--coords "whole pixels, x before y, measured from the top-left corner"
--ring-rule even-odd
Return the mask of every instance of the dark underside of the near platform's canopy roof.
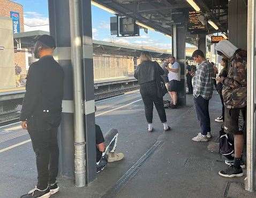
[[[206, 21], [206, 35], [228, 30], [228, 0], [93, 0], [96, 4], [110, 9], [119, 17], [130, 17], [163, 34], [172, 35], [172, 25], [183, 25], [180, 15], [189, 21], [190, 11], [195, 11], [189, 2], [195, 3]], [[213, 21], [215, 29], [207, 21]], [[187, 43], [197, 45], [196, 34], [187, 32]]]

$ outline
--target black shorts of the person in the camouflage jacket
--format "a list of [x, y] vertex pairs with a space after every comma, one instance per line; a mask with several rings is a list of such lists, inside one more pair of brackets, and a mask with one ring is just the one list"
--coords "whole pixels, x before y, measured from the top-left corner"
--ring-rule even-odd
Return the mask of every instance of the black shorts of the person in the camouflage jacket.
[[246, 130], [246, 107], [235, 109], [225, 107], [224, 130], [230, 134], [244, 134]]

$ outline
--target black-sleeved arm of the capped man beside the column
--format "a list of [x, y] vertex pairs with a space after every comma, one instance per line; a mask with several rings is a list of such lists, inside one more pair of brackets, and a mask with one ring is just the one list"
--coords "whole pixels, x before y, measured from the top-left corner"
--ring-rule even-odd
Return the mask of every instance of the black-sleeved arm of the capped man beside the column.
[[39, 100], [40, 95], [40, 76], [36, 65], [31, 65], [28, 70], [26, 93], [22, 102], [22, 109], [20, 114], [20, 121], [26, 121], [35, 109], [35, 106]]

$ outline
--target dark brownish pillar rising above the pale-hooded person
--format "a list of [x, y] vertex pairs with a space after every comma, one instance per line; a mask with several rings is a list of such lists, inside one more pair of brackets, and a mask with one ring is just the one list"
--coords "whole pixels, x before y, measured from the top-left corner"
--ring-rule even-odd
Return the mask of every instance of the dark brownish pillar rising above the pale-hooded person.
[[245, 1], [229, 1], [229, 41], [243, 50], [247, 49], [247, 7]]

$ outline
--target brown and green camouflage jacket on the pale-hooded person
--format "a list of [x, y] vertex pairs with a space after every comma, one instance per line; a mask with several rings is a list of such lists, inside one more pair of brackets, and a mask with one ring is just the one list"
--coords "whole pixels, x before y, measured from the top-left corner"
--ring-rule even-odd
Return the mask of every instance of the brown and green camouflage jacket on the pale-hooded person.
[[222, 96], [227, 108], [246, 106], [247, 97], [246, 52], [234, 55], [229, 66], [228, 77], [223, 80]]

